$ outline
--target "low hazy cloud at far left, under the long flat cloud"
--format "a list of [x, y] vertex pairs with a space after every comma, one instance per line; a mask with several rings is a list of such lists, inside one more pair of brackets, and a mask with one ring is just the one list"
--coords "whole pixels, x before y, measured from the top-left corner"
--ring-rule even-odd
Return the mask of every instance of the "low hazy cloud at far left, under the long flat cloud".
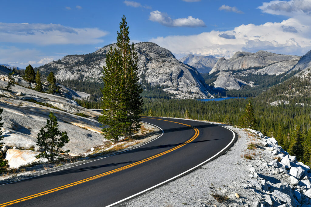
[[20, 68], [31, 64], [33, 67], [44, 65], [63, 56], [42, 56], [42, 52], [35, 49], [20, 49], [17, 47], [0, 47], [0, 62]]

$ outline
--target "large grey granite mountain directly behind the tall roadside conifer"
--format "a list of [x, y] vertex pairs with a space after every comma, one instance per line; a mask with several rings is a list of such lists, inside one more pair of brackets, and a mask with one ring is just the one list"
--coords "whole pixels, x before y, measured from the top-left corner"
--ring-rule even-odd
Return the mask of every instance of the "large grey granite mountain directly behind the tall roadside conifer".
[[[86, 55], [69, 55], [53, 61], [39, 69], [44, 74], [55, 73], [58, 80], [79, 80], [101, 82], [102, 68], [106, 65], [106, 54], [110, 44]], [[139, 81], [143, 85], [162, 87], [174, 98], [207, 98], [212, 97], [209, 87], [199, 72], [179, 62], [167, 49], [155, 43], [135, 44], [138, 56]]]

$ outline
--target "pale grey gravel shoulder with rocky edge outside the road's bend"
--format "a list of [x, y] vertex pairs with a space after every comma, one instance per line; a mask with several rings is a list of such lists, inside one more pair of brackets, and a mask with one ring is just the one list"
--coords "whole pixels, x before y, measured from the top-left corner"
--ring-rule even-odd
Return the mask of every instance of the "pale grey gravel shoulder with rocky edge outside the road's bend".
[[[311, 206], [311, 199], [306, 196], [311, 186], [294, 186], [290, 183], [293, 176], [289, 169], [271, 166], [276, 156], [289, 156], [277, 146], [273, 137], [264, 137], [254, 130], [226, 127], [235, 131], [238, 139], [224, 155], [118, 206]], [[274, 144], [269, 140], [274, 140]], [[250, 144], [256, 147], [248, 149]], [[278, 149], [278, 153], [274, 149]], [[251, 156], [252, 160], [245, 159], [244, 155]], [[297, 161], [292, 161], [290, 163], [294, 166]], [[275, 163], [281, 165], [281, 162]], [[309, 183], [311, 174], [304, 173], [301, 181]], [[276, 195], [277, 191], [290, 198], [284, 200], [283, 194]], [[300, 200], [295, 191], [299, 192]], [[218, 202], [217, 196], [225, 200]]]

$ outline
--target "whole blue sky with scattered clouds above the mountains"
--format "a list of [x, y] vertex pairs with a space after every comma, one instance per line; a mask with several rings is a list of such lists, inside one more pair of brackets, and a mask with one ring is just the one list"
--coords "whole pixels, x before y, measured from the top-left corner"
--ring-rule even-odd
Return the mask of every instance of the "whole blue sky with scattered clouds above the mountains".
[[310, 0], [0, 0], [0, 5], [0, 63], [21, 68], [115, 42], [123, 15], [133, 42], [155, 42], [177, 58], [311, 50]]

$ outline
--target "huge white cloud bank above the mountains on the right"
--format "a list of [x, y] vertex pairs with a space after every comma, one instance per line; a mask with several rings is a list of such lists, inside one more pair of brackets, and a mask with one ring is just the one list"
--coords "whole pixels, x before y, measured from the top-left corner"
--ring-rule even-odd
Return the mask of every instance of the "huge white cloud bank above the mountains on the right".
[[188, 36], [157, 37], [150, 41], [169, 49], [177, 57], [192, 53], [229, 58], [237, 51], [258, 50], [304, 55], [311, 50], [310, 31], [311, 21], [309, 24], [303, 24], [295, 18], [290, 18], [262, 25], [240, 25], [227, 31], [213, 30]]

